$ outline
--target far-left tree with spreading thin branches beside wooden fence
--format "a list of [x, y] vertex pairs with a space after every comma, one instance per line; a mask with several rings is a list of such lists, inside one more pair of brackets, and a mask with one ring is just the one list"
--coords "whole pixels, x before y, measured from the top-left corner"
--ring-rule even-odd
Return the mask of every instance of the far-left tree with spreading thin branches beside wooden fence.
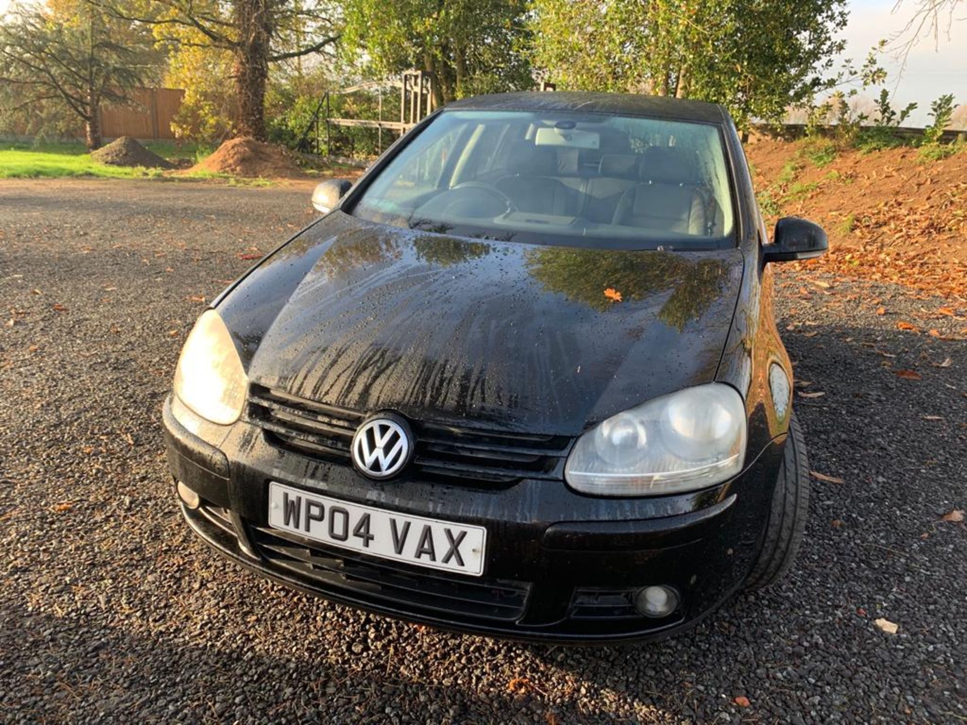
[[87, 2], [15, 5], [0, 24], [0, 81], [8, 111], [63, 104], [102, 144], [103, 102], [128, 102], [156, 62], [150, 35]]

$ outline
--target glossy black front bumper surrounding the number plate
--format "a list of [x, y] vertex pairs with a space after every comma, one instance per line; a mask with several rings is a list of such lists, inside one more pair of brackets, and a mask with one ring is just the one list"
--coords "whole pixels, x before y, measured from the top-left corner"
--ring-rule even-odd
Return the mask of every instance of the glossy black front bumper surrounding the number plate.
[[[544, 642], [658, 638], [714, 611], [742, 586], [761, 547], [784, 443], [773, 441], [742, 475], [711, 489], [604, 499], [577, 494], [562, 481], [523, 479], [499, 490], [370, 481], [348, 467], [278, 449], [246, 420], [222, 427], [195, 419], [170, 396], [163, 420], [173, 477], [201, 499], [196, 508], [183, 504], [183, 513], [191, 529], [228, 559], [340, 604]], [[273, 480], [357, 504], [484, 526], [484, 574], [390, 562], [270, 529]], [[667, 617], [645, 617], [633, 606], [634, 595], [653, 585], [679, 594], [678, 608]]]

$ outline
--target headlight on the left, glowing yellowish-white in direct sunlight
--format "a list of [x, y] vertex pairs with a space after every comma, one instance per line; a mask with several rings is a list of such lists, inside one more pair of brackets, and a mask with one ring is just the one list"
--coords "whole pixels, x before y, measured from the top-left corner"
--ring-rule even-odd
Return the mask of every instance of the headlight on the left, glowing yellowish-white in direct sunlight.
[[249, 379], [231, 334], [214, 309], [194, 324], [175, 370], [175, 394], [206, 420], [229, 425], [245, 406]]

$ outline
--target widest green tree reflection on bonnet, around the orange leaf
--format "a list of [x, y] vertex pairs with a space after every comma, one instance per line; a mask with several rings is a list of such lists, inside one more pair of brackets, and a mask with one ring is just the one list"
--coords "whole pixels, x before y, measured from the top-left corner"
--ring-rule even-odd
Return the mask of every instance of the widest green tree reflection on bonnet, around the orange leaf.
[[528, 250], [525, 259], [544, 289], [601, 311], [616, 304], [604, 295], [608, 288], [618, 290], [625, 303], [673, 290], [659, 319], [678, 331], [715, 301], [726, 269], [719, 259], [666, 251], [541, 247]]

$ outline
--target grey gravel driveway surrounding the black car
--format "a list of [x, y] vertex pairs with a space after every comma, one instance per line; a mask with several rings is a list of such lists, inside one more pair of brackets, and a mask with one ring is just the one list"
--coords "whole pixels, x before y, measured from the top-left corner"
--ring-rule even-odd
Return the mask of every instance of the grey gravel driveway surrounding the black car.
[[942, 339], [963, 303], [780, 273], [832, 477], [792, 574], [659, 644], [517, 645], [294, 594], [181, 520], [160, 414], [179, 349], [309, 218], [308, 188], [0, 182], [0, 719], [967, 719], [967, 529], [941, 520], [967, 508], [967, 342]]

